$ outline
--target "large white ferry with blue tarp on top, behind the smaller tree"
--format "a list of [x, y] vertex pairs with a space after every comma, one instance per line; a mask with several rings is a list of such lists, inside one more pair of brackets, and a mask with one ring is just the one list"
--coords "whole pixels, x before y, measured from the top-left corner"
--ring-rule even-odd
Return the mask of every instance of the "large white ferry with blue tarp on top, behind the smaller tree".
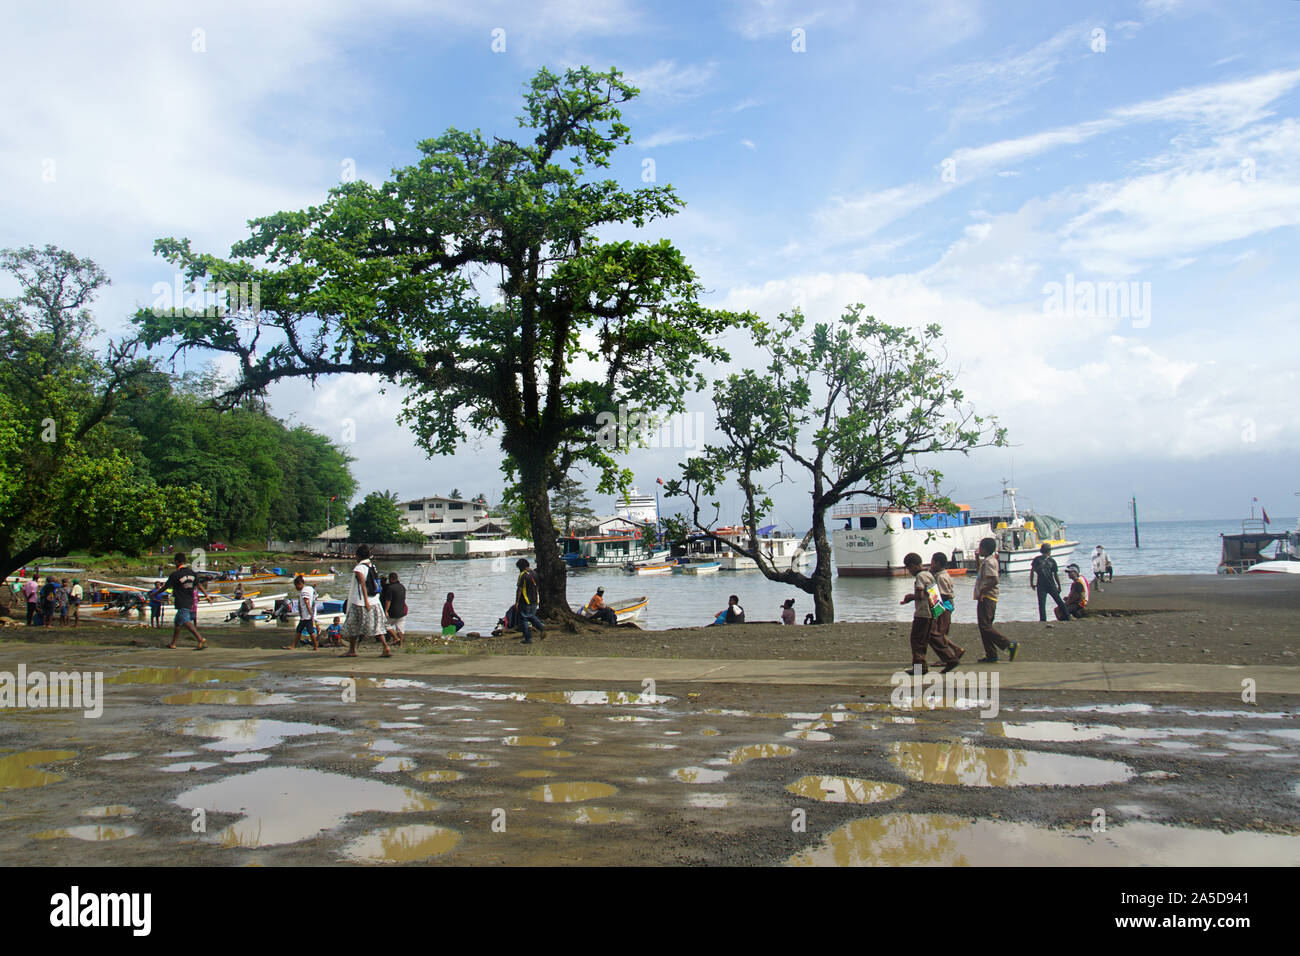
[[841, 578], [907, 574], [902, 559], [909, 551], [927, 561], [935, 551], [942, 551], [952, 568], [961, 571], [975, 558], [980, 538], [993, 535], [988, 522], [971, 519], [970, 505], [957, 505], [957, 514], [948, 514], [859, 501], [836, 506], [831, 522], [844, 522], [831, 532], [831, 550]]

